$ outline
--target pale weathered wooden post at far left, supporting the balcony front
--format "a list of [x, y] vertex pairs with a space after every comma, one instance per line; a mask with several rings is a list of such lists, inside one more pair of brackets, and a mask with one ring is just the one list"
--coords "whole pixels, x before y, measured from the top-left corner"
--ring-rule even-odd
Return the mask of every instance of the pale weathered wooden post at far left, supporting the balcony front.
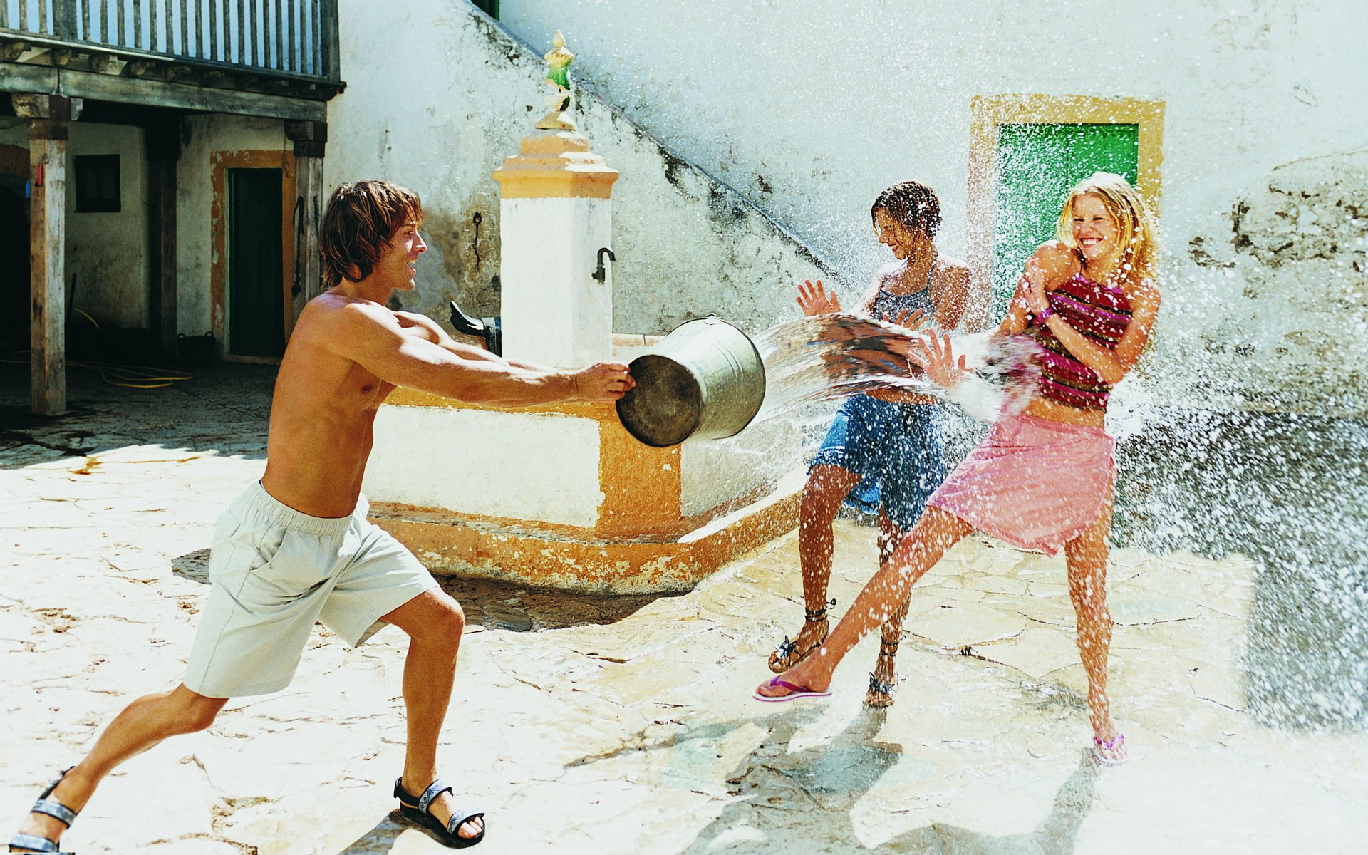
[[29, 120], [30, 402], [34, 413], [56, 416], [67, 409], [67, 123], [81, 115], [81, 98], [12, 100]]

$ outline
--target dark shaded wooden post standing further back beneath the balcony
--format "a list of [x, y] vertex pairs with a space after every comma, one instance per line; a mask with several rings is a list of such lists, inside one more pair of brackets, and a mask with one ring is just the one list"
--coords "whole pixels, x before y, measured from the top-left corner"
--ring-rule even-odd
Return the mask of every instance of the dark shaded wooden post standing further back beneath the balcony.
[[176, 160], [181, 157], [181, 123], [150, 124], [148, 146], [148, 244], [149, 316], [153, 342], [163, 358], [175, 360], [176, 347]]

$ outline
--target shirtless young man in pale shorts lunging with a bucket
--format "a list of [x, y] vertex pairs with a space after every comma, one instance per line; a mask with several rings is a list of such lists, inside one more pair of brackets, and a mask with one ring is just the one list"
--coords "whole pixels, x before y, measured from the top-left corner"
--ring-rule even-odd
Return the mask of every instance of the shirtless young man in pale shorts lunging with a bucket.
[[436, 774], [465, 616], [394, 538], [365, 518], [361, 476], [375, 415], [397, 386], [477, 404], [614, 401], [627, 365], [557, 371], [451, 341], [420, 315], [391, 312], [413, 289], [416, 194], [386, 182], [342, 185], [320, 230], [324, 285], [280, 361], [265, 475], [220, 517], [211, 594], [185, 681], [130, 703], [94, 748], [40, 796], [12, 852], [57, 852], [75, 813], [115, 766], [168, 736], [208, 728], [230, 698], [285, 688], [315, 621], [349, 644], [384, 624], [409, 635], [404, 665], [408, 746], [395, 795], [405, 817], [451, 847], [484, 837], [479, 808], [460, 807]]

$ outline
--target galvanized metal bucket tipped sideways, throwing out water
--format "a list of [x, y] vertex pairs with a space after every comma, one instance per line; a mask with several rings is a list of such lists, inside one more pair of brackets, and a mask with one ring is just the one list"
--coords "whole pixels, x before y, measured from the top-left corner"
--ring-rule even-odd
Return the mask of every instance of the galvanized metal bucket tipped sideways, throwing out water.
[[617, 402], [617, 417], [648, 446], [735, 436], [765, 401], [755, 345], [713, 315], [674, 327], [631, 369], [636, 387]]

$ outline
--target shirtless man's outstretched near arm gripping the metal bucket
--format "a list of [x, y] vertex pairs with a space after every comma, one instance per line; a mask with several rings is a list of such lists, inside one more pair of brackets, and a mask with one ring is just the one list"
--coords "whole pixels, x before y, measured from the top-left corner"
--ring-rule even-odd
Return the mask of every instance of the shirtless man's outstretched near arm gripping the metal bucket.
[[427, 335], [405, 332], [404, 320], [383, 306], [353, 304], [330, 321], [332, 328], [320, 330], [330, 349], [386, 383], [471, 404], [616, 401], [632, 387], [622, 363], [595, 363], [579, 371], [517, 365], [449, 337], [450, 346], [443, 346]]

